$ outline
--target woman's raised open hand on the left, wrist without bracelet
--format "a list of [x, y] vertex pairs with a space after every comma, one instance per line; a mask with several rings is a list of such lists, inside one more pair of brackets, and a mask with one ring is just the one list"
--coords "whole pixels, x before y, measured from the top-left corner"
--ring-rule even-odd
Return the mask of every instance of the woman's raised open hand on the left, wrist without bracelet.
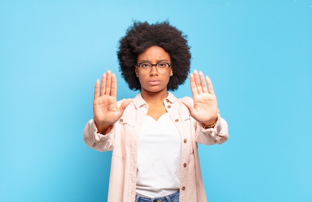
[[132, 101], [127, 99], [120, 107], [117, 105], [117, 80], [116, 75], [108, 70], [96, 81], [94, 88], [93, 114], [98, 132], [105, 133], [110, 125], [114, 124], [124, 113], [125, 108]]

